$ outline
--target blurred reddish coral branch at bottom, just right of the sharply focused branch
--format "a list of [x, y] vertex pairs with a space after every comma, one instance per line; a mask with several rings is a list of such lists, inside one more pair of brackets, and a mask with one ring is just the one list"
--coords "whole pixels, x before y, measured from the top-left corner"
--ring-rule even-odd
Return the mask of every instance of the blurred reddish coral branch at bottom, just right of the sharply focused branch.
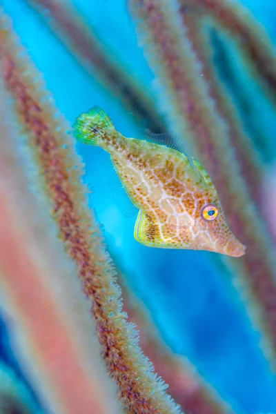
[[148, 311], [129, 288], [123, 287], [124, 310], [139, 329], [139, 344], [166, 381], [175, 401], [190, 414], [233, 414], [188, 359], [174, 355], [164, 344]]

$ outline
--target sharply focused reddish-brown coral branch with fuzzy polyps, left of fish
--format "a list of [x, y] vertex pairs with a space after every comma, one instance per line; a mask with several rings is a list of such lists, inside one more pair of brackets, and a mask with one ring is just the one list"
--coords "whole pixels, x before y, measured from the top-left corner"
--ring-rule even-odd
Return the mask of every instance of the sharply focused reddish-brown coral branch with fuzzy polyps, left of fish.
[[67, 133], [68, 124], [57, 116], [52, 97], [44, 91], [3, 13], [0, 23], [5, 83], [37, 161], [59, 238], [75, 260], [83, 290], [91, 300], [103, 358], [119, 386], [125, 412], [179, 413], [164, 391], [164, 382], [153, 375], [150, 362], [137, 346], [137, 333], [121, 311], [121, 292], [99, 226], [88, 208], [86, 188], [81, 184], [83, 170], [75, 141]]

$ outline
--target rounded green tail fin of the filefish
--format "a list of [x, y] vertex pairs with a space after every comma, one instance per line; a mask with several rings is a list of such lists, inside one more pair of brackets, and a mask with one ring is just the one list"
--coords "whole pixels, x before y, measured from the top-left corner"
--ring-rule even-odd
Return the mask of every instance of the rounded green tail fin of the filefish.
[[115, 132], [110, 117], [99, 106], [94, 106], [88, 113], [81, 114], [74, 127], [77, 140], [90, 145], [99, 145], [101, 137]]

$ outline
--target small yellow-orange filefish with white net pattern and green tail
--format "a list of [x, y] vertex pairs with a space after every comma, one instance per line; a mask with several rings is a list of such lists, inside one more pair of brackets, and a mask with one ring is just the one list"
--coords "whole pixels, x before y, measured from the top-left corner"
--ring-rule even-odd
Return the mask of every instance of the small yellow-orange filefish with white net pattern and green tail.
[[139, 209], [134, 237], [148, 247], [244, 255], [210, 177], [199, 162], [172, 148], [169, 135], [126, 138], [99, 107], [77, 118], [77, 139], [109, 152], [128, 197]]

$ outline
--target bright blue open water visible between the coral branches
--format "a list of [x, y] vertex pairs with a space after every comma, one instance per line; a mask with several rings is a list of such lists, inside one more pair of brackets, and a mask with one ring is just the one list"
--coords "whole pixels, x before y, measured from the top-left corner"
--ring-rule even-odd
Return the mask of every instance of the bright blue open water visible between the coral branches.
[[[92, 79], [61, 43], [21, 0], [2, 0], [14, 20], [21, 41], [43, 72], [57, 107], [70, 123], [88, 108], [101, 106], [117, 130], [128, 137], [140, 130], [116, 97]], [[129, 69], [133, 77], [152, 90], [154, 76], [143, 51], [137, 46], [135, 30], [124, 0], [75, 0], [75, 5], [106, 45], [111, 55]], [[244, 1], [255, 17], [276, 38], [271, 1]], [[255, 102], [267, 117], [264, 128], [275, 120]], [[244, 413], [276, 413], [275, 377], [259, 350], [259, 333], [250, 325], [239, 293], [230, 275], [221, 275], [213, 253], [186, 250], [158, 250], [141, 246], [133, 238], [135, 217], [126, 218], [112, 198], [108, 177], [109, 156], [101, 148], [77, 144], [86, 164], [86, 182], [93, 190], [90, 204], [103, 225], [108, 248], [119, 257], [128, 284], [141, 297], [155, 319], [166, 343], [175, 353], [186, 355], [199, 373], [222, 397]], [[3, 332], [2, 332], [3, 331]], [[3, 359], [16, 364], [0, 331]], [[17, 369], [19, 369], [17, 367]]]

